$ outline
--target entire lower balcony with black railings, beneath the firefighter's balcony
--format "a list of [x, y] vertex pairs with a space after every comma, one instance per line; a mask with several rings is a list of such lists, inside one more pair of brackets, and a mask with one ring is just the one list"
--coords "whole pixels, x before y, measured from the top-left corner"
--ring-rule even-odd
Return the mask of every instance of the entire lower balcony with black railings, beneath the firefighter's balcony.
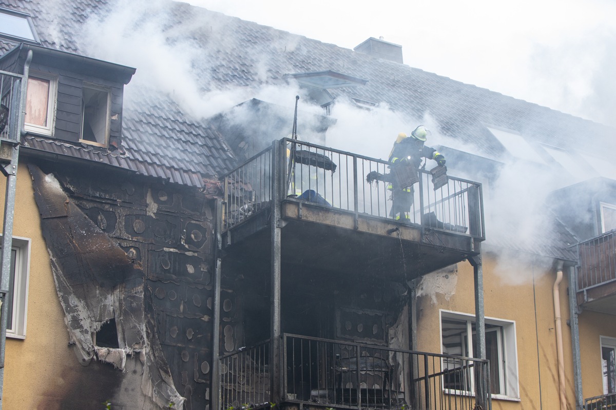
[[270, 343], [221, 358], [222, 410], [491, 409], [488, 361], [283, 334], [272, 395]]

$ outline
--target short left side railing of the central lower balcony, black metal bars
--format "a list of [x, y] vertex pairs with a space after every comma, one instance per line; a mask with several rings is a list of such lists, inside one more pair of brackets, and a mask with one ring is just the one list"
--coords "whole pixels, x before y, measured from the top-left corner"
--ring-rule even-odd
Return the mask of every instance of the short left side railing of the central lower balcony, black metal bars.
[[253, 409], [270, 402], [270, 343], [221, 357], [221, 409]]

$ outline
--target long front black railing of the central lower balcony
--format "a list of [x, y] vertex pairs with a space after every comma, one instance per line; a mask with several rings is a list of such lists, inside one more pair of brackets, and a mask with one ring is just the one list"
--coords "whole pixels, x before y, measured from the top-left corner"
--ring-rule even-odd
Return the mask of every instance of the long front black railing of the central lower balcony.
[[488, 361], [283, 336], [283, 397], [334, 408], [490, 409]]

